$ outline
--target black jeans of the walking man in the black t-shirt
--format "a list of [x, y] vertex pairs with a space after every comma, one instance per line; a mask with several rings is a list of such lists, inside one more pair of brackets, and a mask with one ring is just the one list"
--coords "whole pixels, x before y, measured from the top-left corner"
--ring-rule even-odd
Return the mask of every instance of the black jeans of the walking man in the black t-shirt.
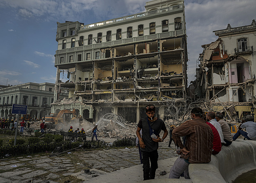
[[[142, 162], [143, 162], [143, 178], [144, 181], [148, 179], [154, 179], [156, 175], [156, 169], [158, 168], [158, 152], [142, 152]], [[151, 163], [151, 166], [150, 166]]]

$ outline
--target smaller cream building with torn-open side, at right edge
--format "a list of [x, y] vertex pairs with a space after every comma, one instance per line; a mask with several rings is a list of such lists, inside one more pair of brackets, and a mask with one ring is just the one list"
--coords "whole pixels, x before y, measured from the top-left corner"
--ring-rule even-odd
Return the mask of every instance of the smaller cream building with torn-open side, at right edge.
[[[253, 114], [256, 104], [256, 24], [213, 31], [219, 38], [202, 45], [195, 93], [232, 120]], [[254, 115], [254, 114], [253, 114]]]

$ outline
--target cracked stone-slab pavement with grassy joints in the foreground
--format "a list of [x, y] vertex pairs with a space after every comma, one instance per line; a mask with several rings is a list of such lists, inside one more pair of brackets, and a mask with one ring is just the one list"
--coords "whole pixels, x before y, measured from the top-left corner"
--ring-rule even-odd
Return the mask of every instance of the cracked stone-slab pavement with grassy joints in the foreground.
[[[169, 166], [173, 161], [169, 158], [176, 159], [177, 157], [174, 144], [171, 148], [167, 146], [168, 141], [159, 143], [158, 160], [162, 160], [159, 162], [165, 162], [166, 165], [161, 168], [162, 163], [159, 163], [157, 174], [163, 170], [169, 171]], [[140, 165], [139, 152], [136, 147], [78, 150], [54, 157], [49, 157], [49, 155], [50, 153], [41, 153], [1, 159], [0, 183], [27, 183], [32, 180], [33, 183], [41, 183], [43, 180], [48, 180], [50, 183], [75, 183], [88, 180], [97, 182], [97, 178], [100, 179], [107, 175], [119, 177], [122, 182], [125, 181], [125, 177], [137, 176], [138, 181], [143, 179], [142, 165]], [[166, 159], [168, 161], [165, 161]], [[85, 169], [91, 169], [90, 173], [85, 174]]]

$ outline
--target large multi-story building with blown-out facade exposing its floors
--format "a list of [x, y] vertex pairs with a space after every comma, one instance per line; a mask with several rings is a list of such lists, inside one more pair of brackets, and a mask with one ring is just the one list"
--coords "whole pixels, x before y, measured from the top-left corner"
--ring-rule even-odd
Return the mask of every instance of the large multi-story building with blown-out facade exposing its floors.
[[[57, 25], [52, 113], [75, 109], [91, 121], [114, 113], [135, 122], [154, 104], [165, 119], [166, 100], [186, 98], [184, 0], [153, 0], [145, 12], [89, 25]], [[59, 100], [60, 87], [69, 99]]]

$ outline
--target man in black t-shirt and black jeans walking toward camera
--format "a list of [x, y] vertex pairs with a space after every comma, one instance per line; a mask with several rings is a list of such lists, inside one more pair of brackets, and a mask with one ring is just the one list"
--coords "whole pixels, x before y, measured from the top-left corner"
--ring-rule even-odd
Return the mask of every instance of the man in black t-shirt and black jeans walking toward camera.
[[[158, 168], [158, 142], [163, 142], [168, 135], [168, 131], [165, 127], [164, 121], [154, 116], [156, 113], [155, 106], [148, 105], [146, 106], [145, 111], [148, 117], [139, 120], [136, 134], [139, 138], [139, 145], [142, 152], [143, 178], [144, 180], [148, 180], [155, 178], [156, 169]], [[142, 138], [139, 133], [141, 129], [143, 129]], [[159, 136], [161, 130], [164, 131], [162, 138]], [[156, 135], [156, 138], [152, 138], [152, 136], [154, 136], [152, 133]]]

